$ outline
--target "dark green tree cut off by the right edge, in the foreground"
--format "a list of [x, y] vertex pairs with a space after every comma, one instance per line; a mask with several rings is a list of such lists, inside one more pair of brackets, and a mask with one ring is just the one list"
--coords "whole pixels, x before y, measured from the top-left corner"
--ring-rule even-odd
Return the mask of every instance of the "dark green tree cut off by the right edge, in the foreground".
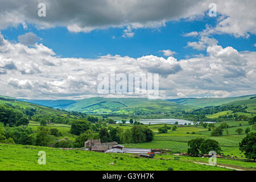
[[256, 159], [256, 133], [247, 134], [239, 143], [239, 150], [244, 152], [247, 159]]

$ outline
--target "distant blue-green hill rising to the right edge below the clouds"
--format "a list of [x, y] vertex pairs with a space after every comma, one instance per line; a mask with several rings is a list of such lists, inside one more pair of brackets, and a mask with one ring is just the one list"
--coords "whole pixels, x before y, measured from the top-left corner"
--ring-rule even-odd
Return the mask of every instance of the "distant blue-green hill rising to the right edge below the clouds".
[[224, 98], [178, 98], [178, 99], [169, 99], [167, 101], [175, 102], [176, 104], [196, 106], [196, 107], [206, 107], [206, 106], [219, 106], [222, 104], [228, 104], [230, 102], [248, 100], [250, 96], [240, 96], [240, 97], [224, 97]]

